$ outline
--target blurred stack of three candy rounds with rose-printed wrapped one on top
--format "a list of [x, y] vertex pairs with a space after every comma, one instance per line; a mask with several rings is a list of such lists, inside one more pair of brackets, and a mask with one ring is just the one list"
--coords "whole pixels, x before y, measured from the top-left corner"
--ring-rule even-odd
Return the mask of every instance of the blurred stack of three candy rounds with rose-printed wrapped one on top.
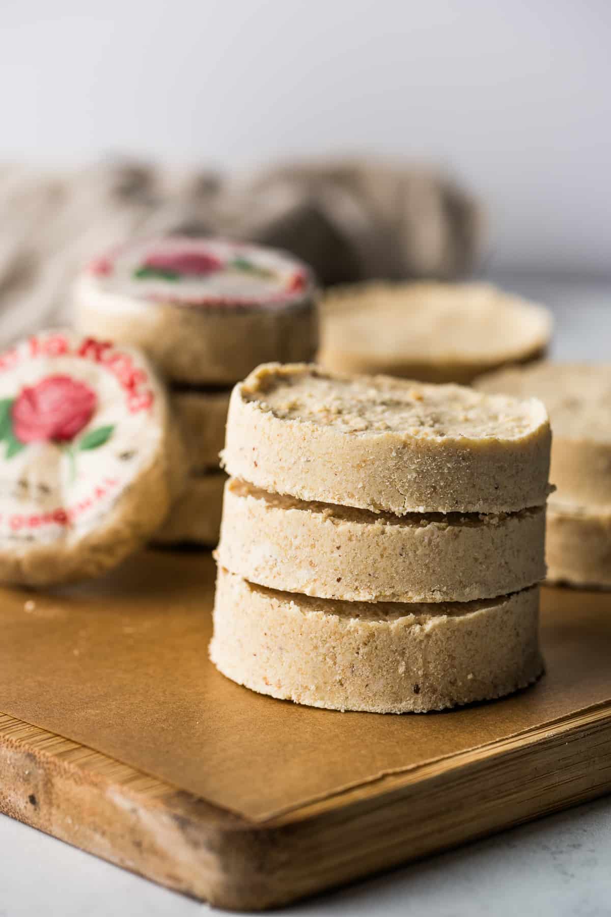
[[169, 382], [189, 478], [158, 544], [216, 544], [231, 386], [262, 361], [312, 359], [315, 298], [300, 261], [221, 239], [138, 240], [83, 271], [74, 289], [79, 331], [141, 348]]

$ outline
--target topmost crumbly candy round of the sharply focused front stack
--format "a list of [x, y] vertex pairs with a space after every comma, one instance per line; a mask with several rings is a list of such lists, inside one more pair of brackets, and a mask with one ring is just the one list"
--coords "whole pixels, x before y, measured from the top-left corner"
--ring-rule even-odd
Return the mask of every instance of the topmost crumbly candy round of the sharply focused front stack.
[[300, 500], [505, 513], [545, 503], [550, 438], [535, 399], [268, 364], [235, 386], [222, 458], [233, 477]]

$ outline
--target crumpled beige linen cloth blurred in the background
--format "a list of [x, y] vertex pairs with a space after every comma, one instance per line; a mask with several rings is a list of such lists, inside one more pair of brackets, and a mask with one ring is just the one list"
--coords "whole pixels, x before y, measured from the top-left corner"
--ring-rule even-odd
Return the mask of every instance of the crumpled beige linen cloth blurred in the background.
[[70, 320], [76, 271], [135, 235], [250, 238], [325, 284], [464, 274], [481, 250], [470, 194], [433, 171], [312, 161], [247, 177], [115, 160], [76, 171], [0, 166], [0, 342]]

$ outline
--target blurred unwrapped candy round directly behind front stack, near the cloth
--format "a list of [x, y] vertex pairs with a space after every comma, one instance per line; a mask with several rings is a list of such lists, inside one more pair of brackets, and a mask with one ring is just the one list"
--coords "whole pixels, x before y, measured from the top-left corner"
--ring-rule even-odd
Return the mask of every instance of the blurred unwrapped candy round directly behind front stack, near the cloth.
[[485, 283], [362, 283], [322, 301], [319, 362], [338, 372], [466, 383], [541, 356], [551, 326], [547, 309]]

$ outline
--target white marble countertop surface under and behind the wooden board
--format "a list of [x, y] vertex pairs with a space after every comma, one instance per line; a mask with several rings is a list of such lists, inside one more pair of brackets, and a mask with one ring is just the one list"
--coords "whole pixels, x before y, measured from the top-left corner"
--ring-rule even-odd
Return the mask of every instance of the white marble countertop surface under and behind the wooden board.
[[[551, 305], [554, 357], [611, 359], [611, 281], [495, 280]], [[0, 917], [195, 917], [209, 910], [0, 816]], [[608, 917], [611, 797], [274, 913]]]

